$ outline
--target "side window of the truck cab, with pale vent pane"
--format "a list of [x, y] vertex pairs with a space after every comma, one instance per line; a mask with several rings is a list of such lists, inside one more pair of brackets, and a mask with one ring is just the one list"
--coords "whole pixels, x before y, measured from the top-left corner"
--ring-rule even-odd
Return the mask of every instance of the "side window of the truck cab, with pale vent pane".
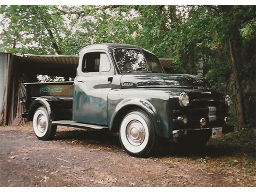
[[106, 53], [87, 53], [82, 62], [82, 72], [108, 72], [110, 62]]

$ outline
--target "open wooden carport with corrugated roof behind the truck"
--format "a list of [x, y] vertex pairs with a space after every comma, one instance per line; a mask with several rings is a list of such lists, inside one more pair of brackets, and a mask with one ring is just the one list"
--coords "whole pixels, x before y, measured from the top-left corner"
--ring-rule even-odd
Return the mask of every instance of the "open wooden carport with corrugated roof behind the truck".
[[[76, 55], [0, 53], [0, 125], [21, 122], [26, 97], [23, 82], [37, 82], [39, 74], [61, 76], [68, 81], [76, 76], [78, 60]], [[160, 61], [166, 72], [171, 72], [172, 59], [160, 58]]]

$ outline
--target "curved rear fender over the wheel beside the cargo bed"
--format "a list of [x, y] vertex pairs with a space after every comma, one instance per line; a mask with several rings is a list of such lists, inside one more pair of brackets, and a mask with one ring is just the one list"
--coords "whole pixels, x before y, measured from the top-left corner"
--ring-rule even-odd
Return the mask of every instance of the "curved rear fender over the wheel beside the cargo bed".
[[48, 102], [48, 100], [46, 98], [36, 98], [31, 104], [30, 107], [28, 109], [28, 120], [32, 121], [33, 120], [33, 115], [34, 112], [36, 111], [36, 109], [39, 106], [44, 106], [50, 116], [50, 118], [52, 119], [52, 111], [51, 111], [51, 107], [50, 104]]

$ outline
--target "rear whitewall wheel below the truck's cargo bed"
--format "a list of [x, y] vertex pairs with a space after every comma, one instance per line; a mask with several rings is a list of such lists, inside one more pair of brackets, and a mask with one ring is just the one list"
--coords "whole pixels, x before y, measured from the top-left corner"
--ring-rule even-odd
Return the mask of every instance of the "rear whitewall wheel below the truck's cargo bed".
[[39, 107], [34, 113], [33, 128], [40, 140], [50, 140], [56, 133], [57, 126], [52, 126], [50, 116], [44, 107]]

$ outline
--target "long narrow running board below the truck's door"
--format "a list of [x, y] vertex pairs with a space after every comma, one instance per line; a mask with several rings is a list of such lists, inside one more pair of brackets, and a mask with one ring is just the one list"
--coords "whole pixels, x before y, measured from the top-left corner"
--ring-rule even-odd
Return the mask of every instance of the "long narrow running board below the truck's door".
[[61, 125], [61, 126], [84, 128], [84, 129], [96, 129], [96, 130], [108, 128], [107, 126], [78, 123], [71, 120], [52, 121], [52, 125]]

